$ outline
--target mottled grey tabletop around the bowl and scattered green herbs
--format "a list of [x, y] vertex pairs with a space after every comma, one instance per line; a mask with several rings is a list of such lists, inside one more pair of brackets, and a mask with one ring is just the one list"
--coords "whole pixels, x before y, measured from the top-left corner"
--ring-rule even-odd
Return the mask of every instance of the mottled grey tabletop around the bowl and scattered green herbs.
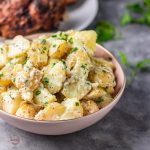
[[[116, 57], [119, 50], [125, 51], [134, 63], [150, 58], [150, 28], [119, 26], [124, 6], [131, 1], [136, 0], [103, 0], [96, 21], [107, 19], [118, 27], [122, 38], [107, 42], [104, 46]], [[0, 120], [0, 150], [150, 150], [149, 85], [149, 72], [140, 73], [104, 119], [69, 135], [36, 135]]]

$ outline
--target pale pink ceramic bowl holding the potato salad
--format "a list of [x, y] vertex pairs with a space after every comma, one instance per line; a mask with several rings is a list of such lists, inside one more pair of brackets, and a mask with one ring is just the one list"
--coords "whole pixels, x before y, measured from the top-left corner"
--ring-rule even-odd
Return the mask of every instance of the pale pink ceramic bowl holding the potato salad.
[[119, 101], [124, 88], [125, 88], [125, 75], [120, 64], [117, 62], [115, 57], [105, 48], [100, 45], [96, 47], [95, 57], [103, 57], [109, 58], [114, 63], [115, 69], [115, 77], [117, 81], [116, 89], [115, 89], [115, 97], [114, 100], [108, 104], [103, 109], [99, 110], [96, 113], [93, 113], [88, 116], [84, 116], [78, 119], [66, 120], [66, 121], [35, 121], [28, 120], [24, 118], [20, 118], [14, 115], [10, 115], [2, 110], [0, 110], [0, 118], [2, 118], [5, 122], [9, 123], [12, 126], [15, 126], [19, 129], [36, 133], [36, 134], [44, 134], [44, 135], [62, 135], [68, 134], [72, 132], [76, 132], [87, 128], [99, 120], [101, 120], [106, 114], [110, 112], [110, 110], [116, 105]]

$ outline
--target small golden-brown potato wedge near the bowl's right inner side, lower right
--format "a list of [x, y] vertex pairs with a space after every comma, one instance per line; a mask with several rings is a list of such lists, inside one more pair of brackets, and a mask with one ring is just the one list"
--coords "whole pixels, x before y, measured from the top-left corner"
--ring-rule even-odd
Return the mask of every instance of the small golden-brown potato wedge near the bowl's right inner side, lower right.
[[89, 92], [84, 99], [91, 99], [91, 100], [95, 100], [98, 99], [99, 97], [102, 97], [104, 95], [106, 95], [106, 91], [101, 88], [101, 87], [97, 87], [95, 89], [92, 89], [91, 92]]

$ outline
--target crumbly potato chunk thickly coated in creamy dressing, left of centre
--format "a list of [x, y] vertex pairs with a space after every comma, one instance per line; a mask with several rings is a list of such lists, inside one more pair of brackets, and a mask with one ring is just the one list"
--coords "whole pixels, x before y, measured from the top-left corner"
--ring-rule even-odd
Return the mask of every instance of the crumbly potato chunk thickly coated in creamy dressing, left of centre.
[[12, 81], [21, 92], [22, 98], [32, 102], [33, 91], [40, 85], [42, 79], [42, 71], [34, 68], [30, 63], [26, 63], [24, 67], [17, 64], [12, 75]]

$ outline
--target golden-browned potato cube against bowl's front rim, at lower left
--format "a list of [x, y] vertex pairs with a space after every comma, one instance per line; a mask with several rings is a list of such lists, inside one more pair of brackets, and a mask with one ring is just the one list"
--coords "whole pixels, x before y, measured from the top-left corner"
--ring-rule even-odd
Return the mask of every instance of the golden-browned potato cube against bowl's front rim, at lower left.
[[40, 111], [40, 109], [40, 106], [24, 101], [18, 108], [16, 116], [27, 119], [34, 119], [35, 115], [38, 113], [38, 111]]

